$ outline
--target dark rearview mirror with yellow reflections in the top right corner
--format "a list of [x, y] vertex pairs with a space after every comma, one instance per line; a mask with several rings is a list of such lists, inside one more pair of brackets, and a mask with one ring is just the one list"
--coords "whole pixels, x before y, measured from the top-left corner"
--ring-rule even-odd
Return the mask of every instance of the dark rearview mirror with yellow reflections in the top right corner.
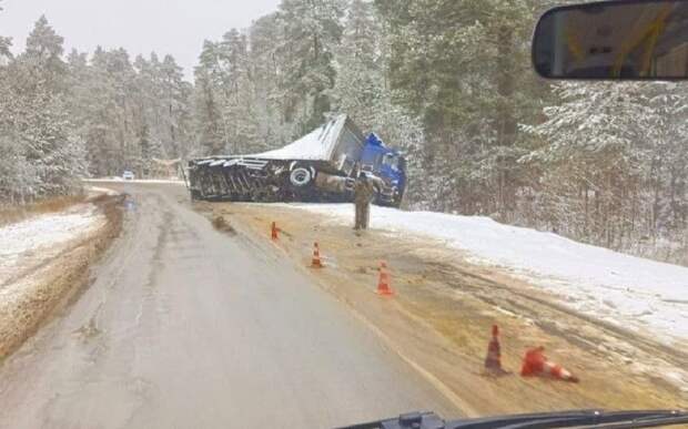
[[549, 79], [688, 79], [688, 1], [565, 6], [540, 18], [536, 72]]

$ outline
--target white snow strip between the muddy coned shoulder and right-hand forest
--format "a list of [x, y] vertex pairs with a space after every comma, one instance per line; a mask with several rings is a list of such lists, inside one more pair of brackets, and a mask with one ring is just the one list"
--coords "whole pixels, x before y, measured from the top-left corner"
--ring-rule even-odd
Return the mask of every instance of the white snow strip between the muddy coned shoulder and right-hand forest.
[[[291, 204], [352, 223], [352, 204]], [[373, 228], [409, 232], [466, 252], [561, 297], [576, 310], [665, 343], [688, 339], [688, 268], [662, 264], [487, 217], [374, 206]], [[685, 344], [685, 343], [684, 343]]]

